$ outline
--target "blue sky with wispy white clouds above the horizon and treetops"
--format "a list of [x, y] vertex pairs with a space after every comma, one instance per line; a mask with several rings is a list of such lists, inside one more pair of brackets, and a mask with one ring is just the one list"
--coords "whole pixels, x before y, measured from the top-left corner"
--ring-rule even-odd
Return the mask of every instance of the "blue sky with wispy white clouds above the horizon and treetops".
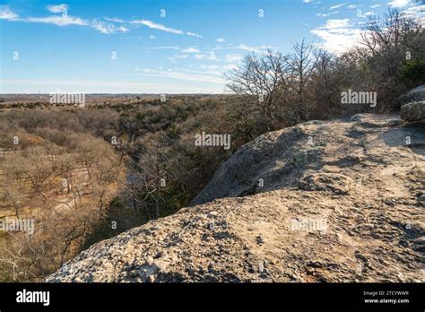
[[[411, 0], [0, 1], [0, 92], [221, 93], [249, 52], [334, 53]], [[423, 14], [423, 13], [422, 13]]]

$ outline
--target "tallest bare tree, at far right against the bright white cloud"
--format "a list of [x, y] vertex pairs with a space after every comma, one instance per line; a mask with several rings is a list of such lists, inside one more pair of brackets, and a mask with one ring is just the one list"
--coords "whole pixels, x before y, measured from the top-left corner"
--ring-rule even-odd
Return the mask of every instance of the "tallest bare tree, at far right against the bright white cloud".
[[421, 21], [397, 9], [388, 9], [382, 19], [371, 16], [361, 34], [360, 47], [351, 51], [360, 65], [361, 83], [377, 91], [377, 109], [397, 108], [396, 99], [409, 88], [403, 81], [403, 66], [411, 59], [423, 60], [424, 31]]

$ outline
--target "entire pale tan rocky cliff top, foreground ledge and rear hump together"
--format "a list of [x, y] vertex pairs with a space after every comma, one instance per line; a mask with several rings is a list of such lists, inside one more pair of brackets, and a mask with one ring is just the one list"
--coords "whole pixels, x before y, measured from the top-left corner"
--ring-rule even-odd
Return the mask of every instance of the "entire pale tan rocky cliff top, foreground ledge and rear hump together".
[[194, 205], [93, 245], [47, 282], [424, 282], [425, 132], [308, 122], [242, 146]]

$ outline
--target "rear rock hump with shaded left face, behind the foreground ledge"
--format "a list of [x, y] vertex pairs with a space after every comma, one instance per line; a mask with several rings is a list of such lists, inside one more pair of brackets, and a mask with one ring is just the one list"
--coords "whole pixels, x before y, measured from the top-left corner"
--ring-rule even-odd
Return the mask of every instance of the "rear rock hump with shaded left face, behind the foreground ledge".
[[352, 178], [346, 177], [351, 170], [366, 164], [385, 165], [388, 157], [397, 160], [399, 152], [388, 153], [389, 146], [396, 151], [421, 150], [423, 129], [400, 125], [396, 116], [356, 115], [329, 122], [310, 121], [265, 134], [225, 161], [192, 204], [283, 187], [302, 189], [312, 180], [317, 182], [317, 190], [325, 188], [319, 181], [327, 179], [328, 191], [341, 188], [339, 192], [343, 192], [352, 184]]

